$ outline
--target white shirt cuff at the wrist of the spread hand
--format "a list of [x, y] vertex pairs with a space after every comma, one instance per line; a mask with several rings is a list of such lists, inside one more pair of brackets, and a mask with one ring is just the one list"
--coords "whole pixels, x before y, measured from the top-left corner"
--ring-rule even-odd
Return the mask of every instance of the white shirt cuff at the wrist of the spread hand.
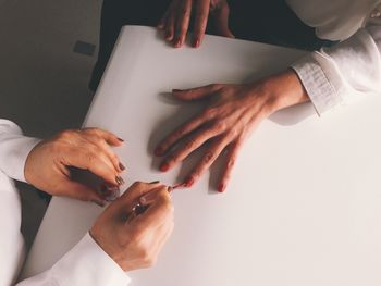
[[342, 104], [343, 100], [315, 57], [319, 55], [311, 53], [293, 63], [291, 67], [298, 75], [315, 110], [320, 116], [322, 113]]

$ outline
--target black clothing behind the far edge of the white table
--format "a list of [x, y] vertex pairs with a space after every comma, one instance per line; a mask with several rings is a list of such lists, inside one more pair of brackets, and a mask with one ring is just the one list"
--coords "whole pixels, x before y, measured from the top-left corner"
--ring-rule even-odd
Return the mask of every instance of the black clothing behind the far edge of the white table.
[[[93, 71], [90, 89], [96, 90], [100, 82], [121, 27], [156, 26], [170, 2], [171, 0], [103, 1], [99, 55]], [[308, 51], [333, 43], [319, 39], [315, 29], [305, 25], [284, 0], [231, 0], [229, 5], [229, 24], [236, 38]], [[210, 23], [207, 33], [214, 34]]]

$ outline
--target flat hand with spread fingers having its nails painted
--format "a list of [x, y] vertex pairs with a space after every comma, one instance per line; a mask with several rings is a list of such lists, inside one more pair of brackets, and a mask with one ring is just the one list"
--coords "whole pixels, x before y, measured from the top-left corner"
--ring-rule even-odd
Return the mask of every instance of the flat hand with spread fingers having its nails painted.
[[163, 160], [160, 170], [167, 172], [208, 142], [202, 159], [185, 179], [184, 186], [190, 187], [221, 152], [228, 149], [218, 185], [221, 192], [226, 188], [243, 142], [261, 121], [276, 110], [308, 100], [302, 83], [292, 70], [251, 84], [214, 84], [188, 90], [174, 89], [173, 96], [184, 101], [207, 99], [210, 103], [204, 112], [159, 144], [155, 154], [164, 156], [174, 145], [186, 138], [182, 147], [176, 148]]

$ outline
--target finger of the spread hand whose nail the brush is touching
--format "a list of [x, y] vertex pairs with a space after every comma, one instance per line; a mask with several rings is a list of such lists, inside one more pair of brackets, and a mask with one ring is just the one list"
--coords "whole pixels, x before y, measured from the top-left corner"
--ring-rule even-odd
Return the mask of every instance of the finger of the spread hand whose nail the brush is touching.
[[201, 161], [185, 181], [185, 187], [192, 187], [193, 184], [200, 178], [200, 176], [211, 166], [223, 149], [229, 145], [229, 137], [213, 139], [211, 146], [205, 152]]

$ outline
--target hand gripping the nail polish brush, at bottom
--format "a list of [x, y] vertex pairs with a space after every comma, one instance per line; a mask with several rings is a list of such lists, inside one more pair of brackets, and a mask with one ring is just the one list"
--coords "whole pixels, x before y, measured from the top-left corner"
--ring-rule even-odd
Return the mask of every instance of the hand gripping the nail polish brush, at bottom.
[[[143, 214], [133, 216], [132, 208], [137, 202], [149, 207]], [[124, 271], [132, 271], [156, 263], [173, 225], [168, 187], [138, 182], [100, 214], [90, 235]]]

